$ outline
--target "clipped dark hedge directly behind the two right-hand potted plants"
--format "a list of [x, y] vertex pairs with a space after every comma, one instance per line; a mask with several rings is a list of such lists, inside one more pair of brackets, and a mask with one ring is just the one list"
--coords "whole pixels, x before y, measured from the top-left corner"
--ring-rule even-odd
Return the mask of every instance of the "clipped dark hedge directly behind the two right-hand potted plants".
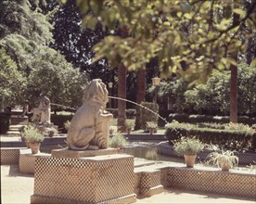
[[239, 152], [256, 152], [256, 132], [242, 130], [226, 130], [220, 126], [202, 127], [190, 123], [170, 123], [166, 126], [166, 137], [173, 145], [173, 140], [181, 136], [197, 136], [205, 144]]

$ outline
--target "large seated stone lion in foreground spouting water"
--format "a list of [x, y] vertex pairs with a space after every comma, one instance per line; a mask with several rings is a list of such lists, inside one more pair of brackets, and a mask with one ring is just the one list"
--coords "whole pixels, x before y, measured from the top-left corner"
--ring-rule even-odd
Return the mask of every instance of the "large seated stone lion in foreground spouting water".
[[85, 89], [83, 106], [78, 108], [67, 136], [70, 149], [98, 149], [109, 147], [109, 121], [113, 115], [105, 108], [109, 92], [100, 79], [95, 79]]

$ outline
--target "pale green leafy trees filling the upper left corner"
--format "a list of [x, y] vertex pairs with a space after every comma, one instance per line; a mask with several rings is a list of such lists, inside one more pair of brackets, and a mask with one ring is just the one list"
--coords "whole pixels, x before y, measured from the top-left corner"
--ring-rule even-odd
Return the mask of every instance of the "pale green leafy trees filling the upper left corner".
[[[32, 3], [32, 4], [31, 4]], [[48, 96], [77, 107], [87, 78], [67, 62], [53, 42], [53, 26], [39, 6], [45, 1], [3, 1], [0, 12], [1, 105], [23, 105]], [[3, 85], [2, 85], [3, 83]], [[3, 94], [2, 94], [3, 93]]]

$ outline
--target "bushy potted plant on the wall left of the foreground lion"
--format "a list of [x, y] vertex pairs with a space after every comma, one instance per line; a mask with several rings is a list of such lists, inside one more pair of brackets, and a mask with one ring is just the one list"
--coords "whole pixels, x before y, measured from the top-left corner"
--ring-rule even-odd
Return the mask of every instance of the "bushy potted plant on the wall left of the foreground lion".
[[41, 146], [41, 142], [44, 141], [45, 136], [33, 125], [26, 126], [21, 133], [26, 142], [30, 144], [32, 148], [32, 154], [37, 154]]

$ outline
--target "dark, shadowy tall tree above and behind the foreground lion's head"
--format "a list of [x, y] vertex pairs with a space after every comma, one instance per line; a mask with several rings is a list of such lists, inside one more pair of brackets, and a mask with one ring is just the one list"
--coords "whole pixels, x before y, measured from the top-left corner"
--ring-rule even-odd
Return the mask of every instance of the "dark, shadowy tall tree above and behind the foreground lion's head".
[[[51, 7], [56, 6], [53, 4]], [[90, 15], [88, 12], [87, 15]], [[109, 76], [114, 74], [108, 69], [108, 61], [102, 58], [92, 63], [95, 52], [92, 47], [102, 40], [108, 31], [103, 31], [101, 25], [96, 25], [96, 30], [81, 28], [83, 16], [80, 14], [75, 1], [69, 0], [65, 5], [60, 5], [51, 18], [54, 24], [53, 37], [55, 41], [51, 47], [60, 51], [66, 59], [79, 67], [91, 79], [100, 78], [109, 82]]]

